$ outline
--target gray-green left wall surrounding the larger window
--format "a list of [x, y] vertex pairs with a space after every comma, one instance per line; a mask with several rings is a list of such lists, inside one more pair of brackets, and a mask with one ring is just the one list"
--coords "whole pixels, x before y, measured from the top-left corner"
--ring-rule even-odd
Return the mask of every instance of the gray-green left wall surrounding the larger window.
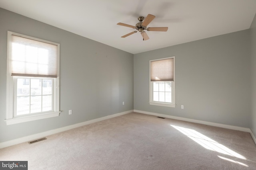
[[[7, 31], [60, 43], [59, 117], [4, 122]], [[0, 8], [0, 142], [132, 109], [132, 54]]]

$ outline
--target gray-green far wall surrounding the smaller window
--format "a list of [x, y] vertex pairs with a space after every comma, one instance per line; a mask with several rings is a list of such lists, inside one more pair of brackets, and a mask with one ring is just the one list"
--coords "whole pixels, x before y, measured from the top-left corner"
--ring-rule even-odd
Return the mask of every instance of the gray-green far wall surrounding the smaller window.
[[[177, 105], [150, 105], [149, 61], [172, 56]], [[134, 109], [250, 127], [250, 79], [249, 29], [139, 53], [134, 55]]]

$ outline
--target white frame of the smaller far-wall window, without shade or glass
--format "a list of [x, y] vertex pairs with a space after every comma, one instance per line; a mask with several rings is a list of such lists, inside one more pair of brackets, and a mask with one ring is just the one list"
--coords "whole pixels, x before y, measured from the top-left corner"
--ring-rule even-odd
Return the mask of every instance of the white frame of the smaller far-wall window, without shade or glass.
[[[174, 75], [173, 75], [173, 81], [159, 81], [159, 82], [171, 82], [172, 83], [172, 102], [156, 102], [153, 100], [153, 82], [150, 80], [150, 75], [151, 75], [151, 62], [152, 61], [159, 61], [159, 60], [164, 60], [164, 59], [173, 59], [174, 60]], [[166, 107], [175, 107], [175, 56], [173, 57], [166, 57], [162, 59], [154, 59], [149, 61], [149, 104], [150, 105], [155, 105], [155, 106], [166, 106]]]

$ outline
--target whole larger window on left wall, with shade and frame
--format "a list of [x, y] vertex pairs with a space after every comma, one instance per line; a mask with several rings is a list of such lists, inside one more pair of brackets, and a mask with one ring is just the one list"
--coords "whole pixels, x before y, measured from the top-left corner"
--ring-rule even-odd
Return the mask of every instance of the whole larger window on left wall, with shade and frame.
[[7, 125], [59, 115], [59, 47], [8, 31]]

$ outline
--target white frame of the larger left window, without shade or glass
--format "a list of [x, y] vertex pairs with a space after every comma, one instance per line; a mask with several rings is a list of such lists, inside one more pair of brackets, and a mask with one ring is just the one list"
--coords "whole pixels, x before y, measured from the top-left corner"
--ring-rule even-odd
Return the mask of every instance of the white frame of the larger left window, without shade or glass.
[[[53, 87], [54, 88], [54, 92], [53, 92], [54, 106], [52, 106], [53, 107], [52, 111], [39, 112], [36, 114], [27, 114], [24, 116], [14, 117], [14, 115], [15, 115], [14, 114], [14, 100], [15, 100], [15, 96], [16, 96], [16, 95], [14, 95], [14, 92], [16, 91], [14, 88], [15, 88], [16, 76], [11, 76], [11, 56], [10, 56], [11, 48], [10, 47], [11, 47], [11, 36], [12, 35], [17, 35], [20, 37], [33, 39], [36, 41], [42, 41], [45, 43], [57, 45], [57, 47], [58, 47], [58, 49], [57, 49], [58, 50], [57, 51], [58, 69], [57, 69], [57, 78], [53, 78], [54, 79], [54, 87]], [[8, 48], [8, 51], [7, 51], [6, 119], [5, 119], [6, 124], [12, 125], [12, 124], [16, 124], [16, 123], [22, 123], [22, 122], [27, 122], [27, 121], [34, 121], [34, 120], [46, 119], [46, 118], [50, 118], [50, 117], [59, 116], [60, 115], [60, 88], [59, 88], [60, 44], [8, 31], [7, 48]], [[24, 78], [24, 77], [20, 77], [20, 78]], [[30, 78], [33, 78], [33, 77], [30, 77]], [[40, 78], [42, 78], [42, 77], [40, 77]]]

